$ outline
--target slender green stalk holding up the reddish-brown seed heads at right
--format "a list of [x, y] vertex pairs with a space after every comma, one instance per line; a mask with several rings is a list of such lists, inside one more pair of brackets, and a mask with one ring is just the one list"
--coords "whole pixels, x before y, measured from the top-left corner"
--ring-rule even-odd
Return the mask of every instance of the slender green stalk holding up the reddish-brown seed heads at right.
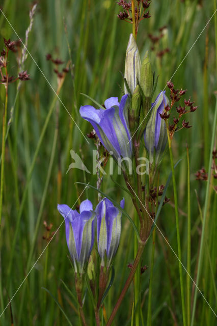
[[170, 151], [170, 162], [171, 162], [171, 169], [172, 169], [173, 194], [174, 194], [175, 215], [176, 215], [176, 233], [177, 233], [177, 247], [178, 247], [178, 258], [179, 258], [179, 279], [180, 279], [180, 289], [181, 289], [182, 318], [183, 318], [183, 326], [186, 326], [185, 303], [184, 303], [184, 286], [183, 286], [182, 265], [181, 265], [182, 257], [181, 257], [180, 231], [179, 231], [178, 197], [177, 197], [176, 178], [175, 178], [175, 170], [174, 170], [174, 161], [173, 161], [173, 153], [172, 153], [172, 146], [171, 146], [171, 138], [170, 138], [168, 128], [167, 128], [167, 134], [168, 134], [168, 144], [169, 144], [169, 151]]

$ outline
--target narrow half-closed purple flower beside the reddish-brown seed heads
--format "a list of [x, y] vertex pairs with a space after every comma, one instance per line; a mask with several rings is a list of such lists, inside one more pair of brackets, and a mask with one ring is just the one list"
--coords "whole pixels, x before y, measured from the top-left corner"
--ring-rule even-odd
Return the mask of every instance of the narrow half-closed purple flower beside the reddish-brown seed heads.
[[151, 115], [144, 132], [145, 146], [149, 153], [150, 164], [157, 164], [160, 154], [164, 152], [167, 144], [167, 129], [165, 121], [160, 118], [169, 99], [164, 92], [160, 92], [152, 103]]

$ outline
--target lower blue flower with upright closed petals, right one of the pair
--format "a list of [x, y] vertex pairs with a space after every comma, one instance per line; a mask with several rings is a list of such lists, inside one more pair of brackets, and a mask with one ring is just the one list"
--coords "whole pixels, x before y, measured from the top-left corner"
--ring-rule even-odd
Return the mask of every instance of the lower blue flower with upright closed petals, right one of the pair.
[[[124, 199], [120, 203], [124, 208]], [[109, 267], [119, 246], [121, 235], [121, 211], [113, 203], [104, 198], [96, 206], [96, 230], [98, 253], [101, 258], [101, 265]]]

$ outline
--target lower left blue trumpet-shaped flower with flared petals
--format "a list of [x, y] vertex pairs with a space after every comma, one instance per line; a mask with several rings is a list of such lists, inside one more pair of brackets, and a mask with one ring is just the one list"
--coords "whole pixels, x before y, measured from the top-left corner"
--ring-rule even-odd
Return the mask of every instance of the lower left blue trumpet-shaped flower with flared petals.
[[93, 205], [86, 199], [80, 204], [80, 213], [65, 204], [58, 204], [57, 208], [65, 219], [66, 241], [75, 273], [82, 274], [94, 243], [95, 212]]

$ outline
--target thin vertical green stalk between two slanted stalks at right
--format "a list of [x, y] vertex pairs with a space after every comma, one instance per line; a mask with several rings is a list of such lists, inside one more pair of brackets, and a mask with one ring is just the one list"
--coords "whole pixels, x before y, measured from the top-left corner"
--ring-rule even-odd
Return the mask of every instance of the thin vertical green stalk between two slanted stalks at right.
[[191, 189], [187, 146], [187, 326], [191, 324]]

